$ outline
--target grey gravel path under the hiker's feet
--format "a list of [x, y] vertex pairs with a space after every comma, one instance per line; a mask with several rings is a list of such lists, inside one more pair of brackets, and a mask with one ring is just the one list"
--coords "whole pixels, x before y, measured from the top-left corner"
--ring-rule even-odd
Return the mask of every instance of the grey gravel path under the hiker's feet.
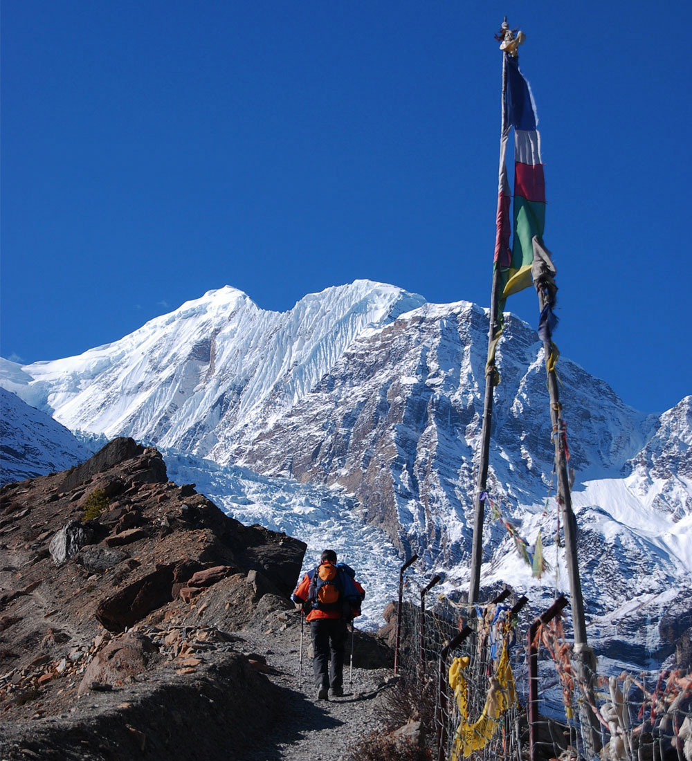
[[[378, 707], [394, 683], [391, 669], [353, 668], [349, 685], [349, 651], [344, 667], [344, 696], [329, 701], [315, 698], [312, 660], [305, 626], [302, 683], [298, 686], [300, 625], [297, 615], [282, 632], [242, 632], [247, 645], [266, 658], [277, 686], [286, 691], [285, 714], [276, 717], [276, 731], [242, 761], [346, 761], [357, 743], [384, 721]], [[350, 640], [347, 644], [349, 648]]]

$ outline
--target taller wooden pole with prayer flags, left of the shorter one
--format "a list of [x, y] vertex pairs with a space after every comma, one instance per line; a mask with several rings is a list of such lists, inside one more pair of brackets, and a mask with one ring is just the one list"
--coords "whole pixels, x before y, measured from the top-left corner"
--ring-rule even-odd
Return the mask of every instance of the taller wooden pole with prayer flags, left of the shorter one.
[[[502, 53], [502, 135], [500, 138], [500, 167], [499, 171], [505, 170], [504, 145], [509, 132], [507, 121], [507, 53]], [[498, 230], [497, 235], [501, 232]], [[497, 307], [499, 303], [499, 262], [493, 268], [493, 288], [490, 295], [490, 328], [488, 330], [488, 355], [493, 346], [493, 340], [497, 331]], [[474, 514], [474, 539], [471, 550], [471, 578], [468, 591], [468, 602], [476, 603], [480, 591], [480, 566], [483, 563], [483, 518], [485, 506], [483, 505], [483, 492], [486, 491], [488, 478], [488, 460], [490, 458], [490, 426], [493, 422], [493, 390], [495, 387], [493, 368], [486, 368], [486, 392], [483, 400], [483, 428], [480, 433], [480, 458], [478, 463], [478, 477], [476, 480], [476, 495]]]

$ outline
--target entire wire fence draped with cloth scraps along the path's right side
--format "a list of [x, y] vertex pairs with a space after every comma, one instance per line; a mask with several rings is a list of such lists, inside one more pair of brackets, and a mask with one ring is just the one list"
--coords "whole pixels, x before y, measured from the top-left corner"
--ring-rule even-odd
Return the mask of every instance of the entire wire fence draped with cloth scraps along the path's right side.
[[559, 607], [532, 622], [525, 602], [468, 605], [403, 585], [400, 690], [433, 759], [692, 761], [692, 673], [585, 670]]

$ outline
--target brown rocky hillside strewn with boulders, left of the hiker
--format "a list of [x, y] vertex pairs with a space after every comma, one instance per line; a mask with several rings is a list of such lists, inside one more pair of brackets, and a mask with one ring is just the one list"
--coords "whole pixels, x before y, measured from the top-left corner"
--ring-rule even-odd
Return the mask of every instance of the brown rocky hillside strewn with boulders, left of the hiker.
[[288, 625], [304, 543], [132, 439], [0, 498], [3, 758], [226, 758], [273, 721], [284, 697], [243, 629]]

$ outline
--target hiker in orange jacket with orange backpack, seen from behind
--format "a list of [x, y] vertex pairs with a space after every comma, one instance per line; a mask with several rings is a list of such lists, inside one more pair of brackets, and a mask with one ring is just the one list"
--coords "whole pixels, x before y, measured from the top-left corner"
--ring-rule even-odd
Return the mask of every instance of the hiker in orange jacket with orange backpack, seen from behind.
[[365, 590], [356, 572], [336, 562], [336, 552], [325, 549], [320, 565], [308, 571], [291, 599], [310, 622], [317, 699], [343, 696], [343, 661], [349, 621], [360, 615]]

